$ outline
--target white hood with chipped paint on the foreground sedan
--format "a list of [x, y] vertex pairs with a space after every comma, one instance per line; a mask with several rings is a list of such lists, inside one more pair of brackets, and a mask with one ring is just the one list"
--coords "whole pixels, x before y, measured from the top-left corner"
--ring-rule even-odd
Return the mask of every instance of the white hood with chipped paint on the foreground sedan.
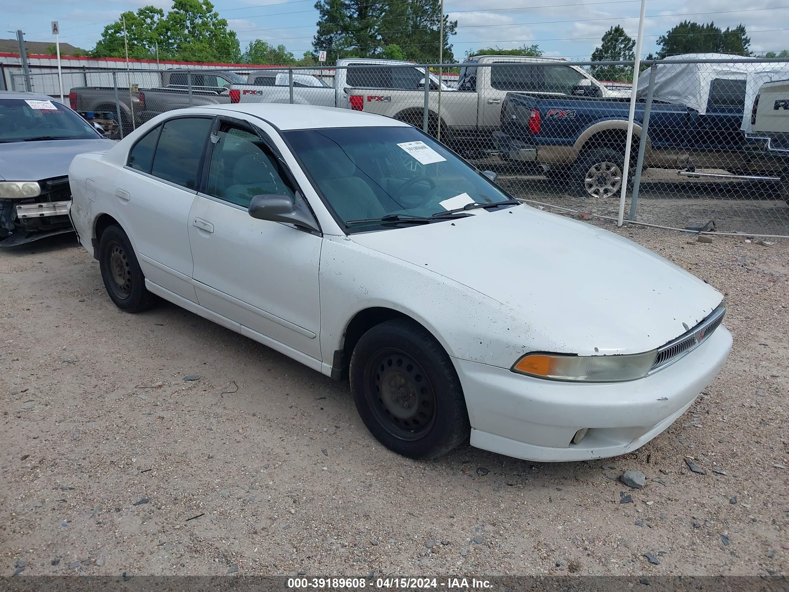
[[580, 355], [635, 354], [675, 339], [723, 296], [649, 249], [519, 205], [450, 222], [352, 234], [507, 306], [529, 346]]

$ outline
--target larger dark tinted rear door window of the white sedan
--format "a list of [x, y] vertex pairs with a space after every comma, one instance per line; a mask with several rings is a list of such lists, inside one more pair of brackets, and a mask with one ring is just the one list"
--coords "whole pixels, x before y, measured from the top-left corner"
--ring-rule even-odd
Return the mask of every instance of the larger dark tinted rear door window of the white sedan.
[[196, 189], [200, 158], [211, 129], [210, 118], [179, 118], [165, 122], [153, 157], [151, 174]]

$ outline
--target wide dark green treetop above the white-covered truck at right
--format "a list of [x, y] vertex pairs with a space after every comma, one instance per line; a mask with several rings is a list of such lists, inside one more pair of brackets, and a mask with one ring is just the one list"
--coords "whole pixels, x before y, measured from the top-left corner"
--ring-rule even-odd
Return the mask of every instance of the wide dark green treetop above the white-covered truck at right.
[[750, 55], [750, 37], [745, 25], [727, 27], [721, 31], [714, 22], [698, 24], [682, 21], [657, 39], [660, 59], [677, 54], [737, 54]]

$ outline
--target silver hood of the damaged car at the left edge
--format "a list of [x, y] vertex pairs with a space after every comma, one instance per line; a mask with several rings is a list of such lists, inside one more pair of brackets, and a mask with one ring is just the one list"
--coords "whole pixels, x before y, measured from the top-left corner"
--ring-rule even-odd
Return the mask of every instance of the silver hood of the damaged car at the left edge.
[[105, 152], [115, 141], [45, 140], [0, 144], [0, 178], [6, 181], [40, 181], [69, 174], [69, 164], [82, 152]]

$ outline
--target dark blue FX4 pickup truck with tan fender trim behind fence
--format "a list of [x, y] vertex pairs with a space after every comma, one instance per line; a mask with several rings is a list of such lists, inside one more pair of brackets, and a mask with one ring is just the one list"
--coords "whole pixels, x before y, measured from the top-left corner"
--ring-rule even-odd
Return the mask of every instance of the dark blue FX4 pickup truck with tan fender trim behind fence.
[[[720, 84], [712, 84], [705, 114], [691, 107], [653, 102], [644, 167], [780, 174], [785, 160], [765, 155], [740, 130], [745, 81], [713, 82]], [[639, 99], [631, 173], [644, 107]], [[546, 174], [569, 181], [581, 197], [612, 197], [622, 188], [629, 111], [630, 99], [510, 92], [494, 141], [503, 158], [540, 163]]]

